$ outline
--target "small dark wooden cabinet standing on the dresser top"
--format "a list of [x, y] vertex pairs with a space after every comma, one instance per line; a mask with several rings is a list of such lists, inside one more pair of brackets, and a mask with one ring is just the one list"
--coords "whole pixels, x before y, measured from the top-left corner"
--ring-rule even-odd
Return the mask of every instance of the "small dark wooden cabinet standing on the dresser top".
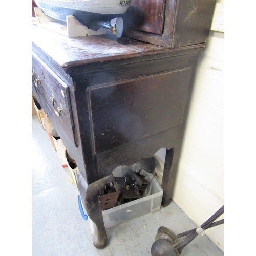
[[[150, 9], [158, 9], [159, 2], [163, 5], [162, 13], [155, 15], [153, 20], [142, 19], [143, 26], [134, 26], [130, 20], [136, 20], [137, 16], [146, 17], [148, 8], [141, 8], [144, 1], [134, 0], [124, 15], [124, 35], [141, 41], [150, 42], [168, 48], [183, 47], [205, 42], [209, 35], [212, 16], [214, 14], [216, 0], [162, 0], [150, 1]], [[145, 1], [147, 2], [147, 1]], [[145, 4], [146, 6], [146, 4]], [[153, 14], [154, 15], [154, 14]], [[154, 27], [162, 23], [161, 33], [153, 33], [147, 27]], [[136, 22], [135, 22], [136, 24]], [[160, 27], [160, 26], [159, 26]]]

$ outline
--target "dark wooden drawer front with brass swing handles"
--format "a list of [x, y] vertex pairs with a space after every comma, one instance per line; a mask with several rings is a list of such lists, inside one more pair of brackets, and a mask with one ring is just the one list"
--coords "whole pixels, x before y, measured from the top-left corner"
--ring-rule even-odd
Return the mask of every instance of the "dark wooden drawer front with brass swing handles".
[[77, 145], [69, 88], [35, 55], [32, 55], [32, 91], [59, 135], [69, 137]]

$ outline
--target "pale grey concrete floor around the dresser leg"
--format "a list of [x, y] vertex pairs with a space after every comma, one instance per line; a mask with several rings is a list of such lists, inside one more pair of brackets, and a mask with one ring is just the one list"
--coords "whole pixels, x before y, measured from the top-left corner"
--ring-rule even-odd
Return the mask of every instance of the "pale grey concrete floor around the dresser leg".
[[[175, 233], [196, 226], [172, 202], [153, 214], [106, 229], [108, 245], [96, 249], [90, 223], [80, 215], [76, 185], [62, 168], [57, 152], [37, 116], [32, 116], [32, 255], [151, 255], [160, 226]], [[197, 236], [182, 251], [187, 256], [219, 256], [223, 252], [206, 236]]]

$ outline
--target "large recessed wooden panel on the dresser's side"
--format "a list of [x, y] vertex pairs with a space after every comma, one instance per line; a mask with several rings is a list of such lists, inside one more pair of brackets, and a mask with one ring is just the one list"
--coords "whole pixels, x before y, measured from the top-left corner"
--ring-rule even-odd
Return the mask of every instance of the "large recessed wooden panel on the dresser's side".
[[88, 88], [94, 152], [181, 124], [190, 67]]

